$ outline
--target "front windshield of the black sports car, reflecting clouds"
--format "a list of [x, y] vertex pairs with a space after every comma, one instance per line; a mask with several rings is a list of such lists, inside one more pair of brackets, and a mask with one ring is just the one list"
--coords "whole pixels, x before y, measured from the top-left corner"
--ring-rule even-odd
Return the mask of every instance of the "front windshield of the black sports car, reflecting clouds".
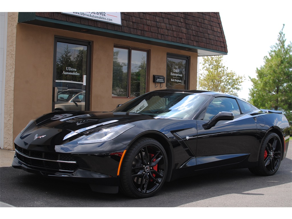
[[137, 97], [113, 112], [132, 112], [151, 115], [156, 119], [192, 119], [208, 95], [185, 92], [150, 92]]

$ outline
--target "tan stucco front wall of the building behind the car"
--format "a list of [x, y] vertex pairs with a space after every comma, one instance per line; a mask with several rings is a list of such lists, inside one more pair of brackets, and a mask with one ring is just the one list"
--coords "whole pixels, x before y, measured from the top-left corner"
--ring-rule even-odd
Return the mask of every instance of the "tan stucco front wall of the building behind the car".
[[114, 45], [150, 50], [148, 91], [163, 89], [159, 86], [155, 88], [152, 81], [153, 74], [166, 76], [166, 53], [190, 56], [190, 89], [197, 88], [197, 53], [19, 23], [16, 34], [14, 99], [13, 96], [11, 97], [13, 139], [32, 118], [51, 112], [54, 36], [93, 42], [91, 110], [110, 111], [118, 104], [129, 100], [129, 98], [112, 98]]

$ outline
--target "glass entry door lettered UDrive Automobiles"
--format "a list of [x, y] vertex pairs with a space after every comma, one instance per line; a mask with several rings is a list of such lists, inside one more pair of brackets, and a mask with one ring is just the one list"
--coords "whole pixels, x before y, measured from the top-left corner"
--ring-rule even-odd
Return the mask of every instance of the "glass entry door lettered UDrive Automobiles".
[[55, 38], [52, 111], [89, 110], [90, 42]]

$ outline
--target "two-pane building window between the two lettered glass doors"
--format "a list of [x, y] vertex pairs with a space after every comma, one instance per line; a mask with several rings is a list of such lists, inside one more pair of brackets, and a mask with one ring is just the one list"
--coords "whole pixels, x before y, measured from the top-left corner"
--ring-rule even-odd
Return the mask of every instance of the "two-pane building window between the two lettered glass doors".
[[146, 93], [147, 51], [114, 48], [112, 96], [138, 97]]

